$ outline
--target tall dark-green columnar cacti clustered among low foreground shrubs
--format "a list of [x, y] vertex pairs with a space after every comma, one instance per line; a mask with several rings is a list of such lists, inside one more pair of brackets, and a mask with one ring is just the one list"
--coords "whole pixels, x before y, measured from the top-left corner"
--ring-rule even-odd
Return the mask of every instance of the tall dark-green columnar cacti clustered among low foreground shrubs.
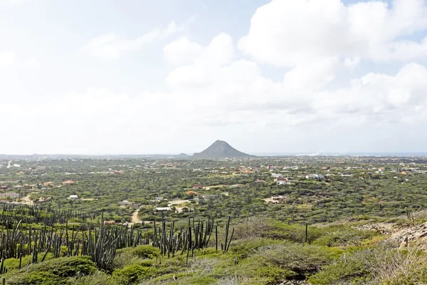
[[[4, 274], [7, 270], [4, 267], [4, 259], [19, 259], [19, 268], [21, 268], [23, 265], [22, 257], [31, 255], [28, 264], [37, 263], [40, 260], [41, 262], [44, 261], [49, 252], [55, 258], [88, 255], [92, 257], [98, 268], [109, 270], [117, 249], [147, 244], [159, 248], [162, 256], [174, 257], [176, 253], [180, 253], [186, 254], [188, 260], [190, 254], [194, 256], [195, 249], [209, 247], [214, 229], [216, 249], [218, 250], [218, 225], [214, 225], [214, 219], [210, 218], [199, 222], [189, 219], [186, 228], [175, 229], [174, 222], [168, 225], [162, 214], [162, 222], [160, 225], [154, 222], [152, 234], [144, 233], [141, 229], [135, 229], [133, 226], [106, 225], [104, 224], [103, 212], [100, 227], [88, 227], [87, 224], [80, 224], [78, 228], [75, 225], [69, 227], [68, 219], [63, 219], [63, 217], [69, 217], [68, 214], [70, 216], [72, 214], [56, 212], [53, 209], [51, 209], [51, 216], [56, 218], [50, 219], [41, 228], [23, 222], [22, 219], [16, 219], [17, 213], [31, 213], [35, 214], [34, 217], [38, 217], [39, 211], [40, 209], [36, 207], [4, 206], [4, 212], [0, 214], [0, 224], [4, 226], [0, 232], [0, 258], [2, 259], [0, 274]], [[7, 217], [7, 219], [2, 220], [1, 217]], [[221, 243], [221, 249], [224, 253], [228, 251], [233, 239], [234, 229], [229, 234], [230, 221], [231, 218], [228, 217], [225, 239]], [[65, 227], [58, 227], [55, 222], [59, 222], [59, 224], [63, 222]], [[39, 254], [41, 259], [38, 257]]]

